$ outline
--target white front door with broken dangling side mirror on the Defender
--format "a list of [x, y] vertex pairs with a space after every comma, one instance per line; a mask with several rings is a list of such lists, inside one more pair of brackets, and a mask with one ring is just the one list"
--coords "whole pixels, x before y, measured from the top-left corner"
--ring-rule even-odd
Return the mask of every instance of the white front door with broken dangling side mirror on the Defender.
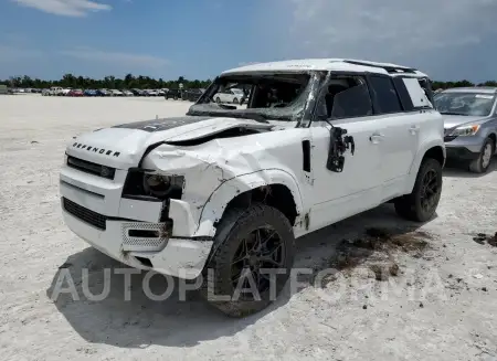
[[[319, 108], [326, 109], [328, 119], [314, 121], [311, 126], [311, 231], [377, 206], [383, 180], [380, 150], [384, 141], [383, 129], [380, 117], [372, 115], [372, 103], [364, 79], [359, 76], [331, 79], [318, 102], [318, 114]], [[327, 168], [331, 126], [346, 129], [346, 136], [352, 137], [355, 142], [353, 155], [351, 149], [343, 153], [342, 172]]]

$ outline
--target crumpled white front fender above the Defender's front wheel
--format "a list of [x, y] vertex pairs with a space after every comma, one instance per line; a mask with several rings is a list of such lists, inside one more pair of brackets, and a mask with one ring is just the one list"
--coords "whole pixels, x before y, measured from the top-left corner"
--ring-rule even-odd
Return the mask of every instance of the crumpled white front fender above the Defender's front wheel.
[[[142, 168], [184, 177], [181, 200], [171, 200], [171, 208], [177, 206], [181, 214], [187, 210], [189, 222], [188, 226], [181, 227], [181, 234], [176, 236], [214, 236], [214, 225], [230, 201], [264, 185], [286, 187], [292, 193], [297, 214], [302, 213], [298, 181], [289, 167], [277, 162], [279, 155], [258, 141], [250, 142], [250, 146], [245, 146], [247, 148], [226, 145], [232, 141], [234, 139], [215, 139], [193, 147], [165, 144], [144, 159]], [[288, 150], [286, 152], [290, 153]], [[295, 157], [290, 155], [288, 163], [290, 159]], [[275, 164], [281, 167], [276, 168]]]

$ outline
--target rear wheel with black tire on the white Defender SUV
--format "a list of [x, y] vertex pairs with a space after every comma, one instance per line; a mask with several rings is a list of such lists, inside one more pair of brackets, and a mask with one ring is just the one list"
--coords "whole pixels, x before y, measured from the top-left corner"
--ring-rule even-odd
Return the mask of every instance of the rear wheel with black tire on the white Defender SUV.
[[[425, 183], [431, 187], [425, 187]], [[393, 202], [396, 213], [408, 221], [426, 222], [431, 220], [438, 206], [442, 183], [442, 164], [433, 158], [424, 159], [417, 171], [412, 193], [400, 197]], [[423, 195], [430, 197], [430, 199], [423, 202]]]

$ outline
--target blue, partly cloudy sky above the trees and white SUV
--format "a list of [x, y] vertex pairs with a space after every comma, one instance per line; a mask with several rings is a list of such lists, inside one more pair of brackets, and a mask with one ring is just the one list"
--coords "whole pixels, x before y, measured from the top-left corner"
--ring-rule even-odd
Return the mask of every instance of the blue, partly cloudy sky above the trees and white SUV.
[[212, 78], [348, 57], [497, 79], [497, 0], [2, 0], [0, 78]]

